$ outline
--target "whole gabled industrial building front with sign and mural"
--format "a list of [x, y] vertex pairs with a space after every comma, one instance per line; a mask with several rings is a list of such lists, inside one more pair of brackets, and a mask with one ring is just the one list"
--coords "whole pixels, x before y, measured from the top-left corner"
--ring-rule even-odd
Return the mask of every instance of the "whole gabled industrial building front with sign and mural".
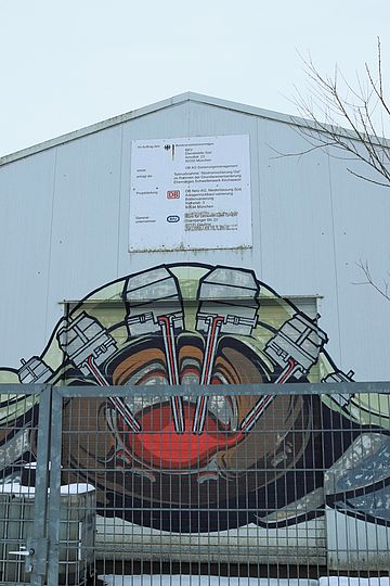
[[[190, 93], [0, 161], [0, 383], [140, 386], [64, 404], [98, 548], [342, 566], [364, 527], [388, 563], [389, 397], [326, 384], [390, 379], [390, 304], [358, 284], [390, 266], [390, 200], [332, 152], [287, 156], [304, 124]], [[35, 454], [26, 405], [3, 483]]]

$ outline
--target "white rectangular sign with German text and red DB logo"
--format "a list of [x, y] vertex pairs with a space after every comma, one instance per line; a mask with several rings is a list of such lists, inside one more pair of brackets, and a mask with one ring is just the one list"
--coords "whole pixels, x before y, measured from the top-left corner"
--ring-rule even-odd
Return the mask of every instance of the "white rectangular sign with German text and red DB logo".
[[248, 136], [132, 142], [130, 252], [251, 245]]

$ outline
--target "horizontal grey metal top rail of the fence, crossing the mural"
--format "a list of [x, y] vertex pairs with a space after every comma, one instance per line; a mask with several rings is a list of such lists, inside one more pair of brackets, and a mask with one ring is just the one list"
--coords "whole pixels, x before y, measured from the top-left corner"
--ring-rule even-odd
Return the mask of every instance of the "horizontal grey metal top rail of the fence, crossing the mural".
[[126, 397], [126, 396], [216, 396], [216, 395], [354, 395], [359, 393], [390, 394], [390, 381], [338, 382], [338, 383], [253, 383], [226, 385], [123, 385], [123, 386], [54, 386], [50, 384], [0, 384], [0, 395], [41, 394], [53, 388], [62, 397]]

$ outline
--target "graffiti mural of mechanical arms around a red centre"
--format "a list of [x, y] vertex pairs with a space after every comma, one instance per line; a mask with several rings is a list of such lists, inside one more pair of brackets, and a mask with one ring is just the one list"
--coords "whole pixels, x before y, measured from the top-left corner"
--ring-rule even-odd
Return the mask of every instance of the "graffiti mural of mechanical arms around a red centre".
[[[26, 333], [27, 335], [27, 333]], [[389, 399], [273, 395], [272, 384], [340, 382], [326, 333], [255, 272], [161, 265], [88, 295], [40, 356], [0, 382], [216, 385], [216, 396], [131, 393], [64, 407], [64, 482], [96, 487], [101, 512], [181, 532], [286, 526], [324, 504], [390, 523]], [[255, 395], [229, 384], [270, 385]], [[326, 393], [324, 386], [324, 393]], [[3, 482], [35, 456], [34, 400], [1, 406]]]

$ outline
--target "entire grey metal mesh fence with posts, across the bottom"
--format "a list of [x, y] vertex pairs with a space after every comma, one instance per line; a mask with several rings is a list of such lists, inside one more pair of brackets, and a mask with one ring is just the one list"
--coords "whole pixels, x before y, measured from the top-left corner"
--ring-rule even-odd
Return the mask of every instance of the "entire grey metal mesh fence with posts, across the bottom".
[[0, 583], [389, 581], [386, 383], [263, 388], [2, 388]]

